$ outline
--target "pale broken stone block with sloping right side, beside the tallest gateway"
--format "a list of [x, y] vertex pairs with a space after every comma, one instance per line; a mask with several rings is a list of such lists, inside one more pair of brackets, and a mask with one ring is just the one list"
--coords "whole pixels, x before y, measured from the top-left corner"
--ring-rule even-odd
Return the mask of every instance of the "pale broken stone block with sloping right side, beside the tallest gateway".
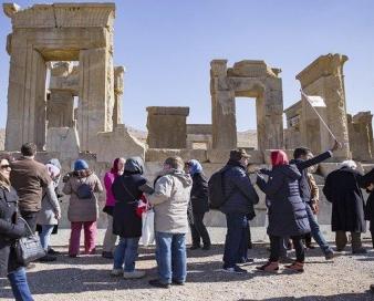
[[97, 133], [97, 162], [112, 163], [116, 157], [138, 156], [145, 158], [145, 146], [132, 137], [124, 124], [114, 132]]

